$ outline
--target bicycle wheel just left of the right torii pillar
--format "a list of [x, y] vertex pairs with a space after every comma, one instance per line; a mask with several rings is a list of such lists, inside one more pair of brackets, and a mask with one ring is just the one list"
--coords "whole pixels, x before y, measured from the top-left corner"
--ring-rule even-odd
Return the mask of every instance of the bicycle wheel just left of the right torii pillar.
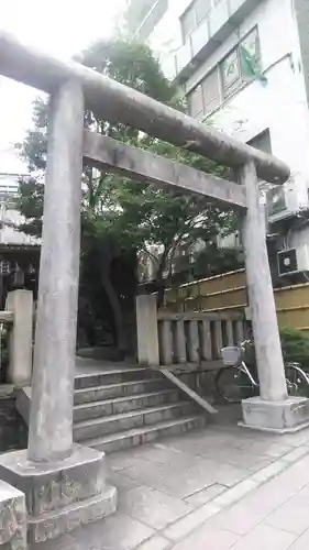
[[214, 385], [220, 397], [228, 403], [241, 403], [255, 395], [255, 388], [247, 374], [234, 366], [220, 369]]

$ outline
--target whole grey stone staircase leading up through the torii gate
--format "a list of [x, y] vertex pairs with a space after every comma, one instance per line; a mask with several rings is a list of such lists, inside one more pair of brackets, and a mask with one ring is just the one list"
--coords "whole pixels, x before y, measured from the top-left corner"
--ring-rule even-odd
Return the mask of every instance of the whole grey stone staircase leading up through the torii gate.
[[202, 428], [207, 415], [159, 372], [108, 369], [75, 378], [74, 439], [111, 452]]

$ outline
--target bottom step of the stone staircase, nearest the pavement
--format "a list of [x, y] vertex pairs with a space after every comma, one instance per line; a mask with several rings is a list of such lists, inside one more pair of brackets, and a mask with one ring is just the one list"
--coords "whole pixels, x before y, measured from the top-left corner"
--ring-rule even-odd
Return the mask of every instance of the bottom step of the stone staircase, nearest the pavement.
[[141, 428], [132, 428], [131, 430], [111, 433], [101, 438], [88, 439], [84, 441], [84, 444], [104, 452], [121, 451], [150, 443], [158, 438], [179, 436], [190, 430], [202, 429], [206, 425], [207, 415], [191, 415], [153, 426], [142, 426]]

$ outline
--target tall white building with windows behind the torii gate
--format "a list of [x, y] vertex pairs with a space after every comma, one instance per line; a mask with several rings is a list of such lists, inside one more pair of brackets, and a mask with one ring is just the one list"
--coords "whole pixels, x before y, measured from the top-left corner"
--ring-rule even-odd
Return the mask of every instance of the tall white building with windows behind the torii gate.
[[267, 194], [269, 232], [276, 250], [309, 250], [309, 1], [131, 0], [128, 15], [194, 118], [289, 164]]

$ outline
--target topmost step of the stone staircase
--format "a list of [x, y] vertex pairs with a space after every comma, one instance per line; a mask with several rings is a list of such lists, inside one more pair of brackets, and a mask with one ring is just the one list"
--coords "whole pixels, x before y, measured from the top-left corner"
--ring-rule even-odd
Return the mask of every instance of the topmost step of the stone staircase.
[[75, 389], [102, 386], [107, 384], [121, 384], [122, 382], [143, 381], [157, 377], [157, 373], [152, 369], [140, 366], [107, 369], [90, 374], [79, 374], [75, 377]]

